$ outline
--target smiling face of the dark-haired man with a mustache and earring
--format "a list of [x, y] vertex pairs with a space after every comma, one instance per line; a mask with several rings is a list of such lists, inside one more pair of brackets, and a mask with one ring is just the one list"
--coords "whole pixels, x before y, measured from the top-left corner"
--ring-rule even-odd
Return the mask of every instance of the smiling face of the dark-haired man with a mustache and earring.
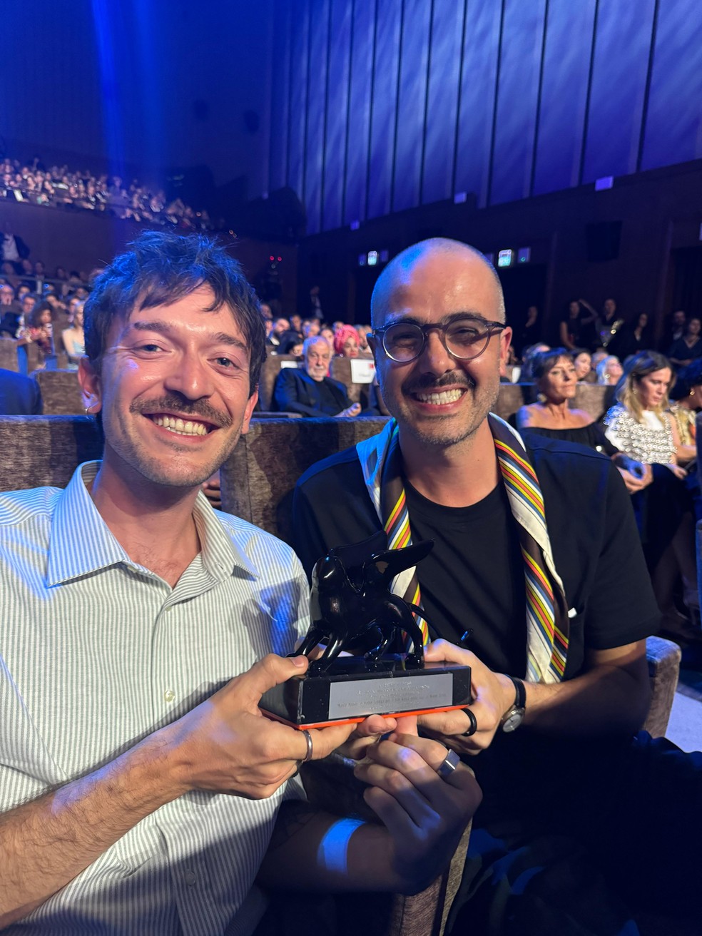
[[102, 414], [103, 466], [132, 486], [197, 488], [248, 430], [249, 350], [227, 306], [206, 311], [212, 299], [201, 286], [115, 319], [100, 372], [80, 363], [86, 405]]

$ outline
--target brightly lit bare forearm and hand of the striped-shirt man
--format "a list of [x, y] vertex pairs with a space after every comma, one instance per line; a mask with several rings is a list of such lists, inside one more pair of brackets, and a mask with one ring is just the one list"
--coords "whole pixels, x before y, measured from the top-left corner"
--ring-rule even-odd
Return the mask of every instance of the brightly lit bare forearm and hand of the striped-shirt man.
[[[272, 654], [105, 767], [0, 815], [0, 927], [68, 884], [146, 815], [189, 790], [270, 797], [297, 770], [299, 731], [258, 709], [266, 689], [300, 675], [305, 657]], [[353, 725], [311, 730], [326, 757]]]

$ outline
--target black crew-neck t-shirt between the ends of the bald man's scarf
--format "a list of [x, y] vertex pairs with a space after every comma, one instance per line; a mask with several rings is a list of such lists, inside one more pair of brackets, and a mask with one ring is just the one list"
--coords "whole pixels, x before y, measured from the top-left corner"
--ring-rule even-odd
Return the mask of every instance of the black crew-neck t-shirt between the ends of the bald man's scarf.
[[[433, 540], [417, 565], [427, 621], [451, 643], [507, 673], [526, 670], [524, 563], [505, 485], [470, 507], [434, 504], [405, 482], [413, 542]], [[480, 548], [475, 548], [476, 544]]]

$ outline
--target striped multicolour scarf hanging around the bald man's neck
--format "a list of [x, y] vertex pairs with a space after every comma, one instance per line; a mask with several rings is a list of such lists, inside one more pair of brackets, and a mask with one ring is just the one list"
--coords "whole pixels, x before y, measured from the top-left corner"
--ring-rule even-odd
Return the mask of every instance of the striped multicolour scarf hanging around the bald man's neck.
[[[527, 622], [527, 672], [532, 682], [563, 680], [568, 651], [568, 613], [563, 583], [551, 553], [544, 499], [526, 448], [517, 432], [490, 413], [490, 431], [505, 483], [512, 516], [517, 521], [524, 560]], [[379, 435], [356, 446], [369, 495], [388, 534], [390, 548], [412, 542], [402, 482], [402, 452], [397, 422], [392, 419]], [[421, 605], [416, 568], [393, 579], [392, 592]], [[427, 623], [419, 620], [425, 643]]]

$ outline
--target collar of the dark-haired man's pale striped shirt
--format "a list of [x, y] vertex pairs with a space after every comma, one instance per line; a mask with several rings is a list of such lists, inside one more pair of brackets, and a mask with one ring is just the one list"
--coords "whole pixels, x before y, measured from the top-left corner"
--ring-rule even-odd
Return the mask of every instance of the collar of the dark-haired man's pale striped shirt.
[[[79, 465], [58, 499], [49, 540], [47, 585], [50, 587], [119, 563], [139, 571], [143, 568], [129, 558], [88, 492], [86, 485], [94, 480], [99, 466], [99, 461], [85, 461]], [[193, 516], [201, 543], [202, 564], [212, 578], [228, 578], [237, 567], [258, 578], [256, 569], [227, 535], [202, 491], [197, 494]]]

